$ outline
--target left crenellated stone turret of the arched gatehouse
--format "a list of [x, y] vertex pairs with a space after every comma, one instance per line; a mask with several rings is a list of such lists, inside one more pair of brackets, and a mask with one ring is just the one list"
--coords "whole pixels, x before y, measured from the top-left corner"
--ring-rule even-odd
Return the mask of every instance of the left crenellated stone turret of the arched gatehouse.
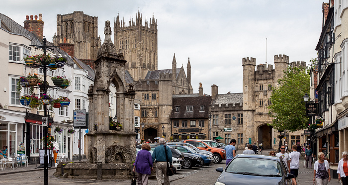
[[254, 129], [255, 116], [255, 58], [243, 58], [243, 133], [244, 141], [249, 138], [256, 141], [256, 131]]

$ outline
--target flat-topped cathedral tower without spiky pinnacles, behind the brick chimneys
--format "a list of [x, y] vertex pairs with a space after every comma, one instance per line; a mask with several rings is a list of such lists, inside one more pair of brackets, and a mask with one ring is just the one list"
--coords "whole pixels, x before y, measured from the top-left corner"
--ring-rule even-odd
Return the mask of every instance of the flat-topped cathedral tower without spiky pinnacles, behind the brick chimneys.
[[95, 60], [101, 46], [100, 36], [98, 37], [98, 17], [86, 15], [83, 11], [58, 14], [57, 34], [53, 37], [53, 44], [74, 44], [76, 58]]

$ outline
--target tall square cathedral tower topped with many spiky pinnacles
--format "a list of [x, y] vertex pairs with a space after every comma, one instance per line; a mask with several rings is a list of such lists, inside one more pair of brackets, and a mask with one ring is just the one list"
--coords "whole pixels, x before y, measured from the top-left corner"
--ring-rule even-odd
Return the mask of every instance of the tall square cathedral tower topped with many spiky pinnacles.
[[114, 44], [116, 49], [122, 49], [127, 60], [126, 69], [135, 81], [144, 79], [149, 71], [157, 70], [157, 20], [152, 16], [150, 22], [138, 10], [136, 19], [129, 17], [129, 23], [119, 15], [114, 21]]

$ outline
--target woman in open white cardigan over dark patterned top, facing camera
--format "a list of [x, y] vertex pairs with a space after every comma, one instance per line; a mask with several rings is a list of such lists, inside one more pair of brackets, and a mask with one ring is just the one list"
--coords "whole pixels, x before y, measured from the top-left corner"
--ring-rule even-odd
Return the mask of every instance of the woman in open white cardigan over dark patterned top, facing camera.
[[314, 163], [313, 181], [317, 181], [318, 185], [328, 185], [331, 180], [329, 162], [324, 159], [324, 153], [318, 153], [318, 160]]

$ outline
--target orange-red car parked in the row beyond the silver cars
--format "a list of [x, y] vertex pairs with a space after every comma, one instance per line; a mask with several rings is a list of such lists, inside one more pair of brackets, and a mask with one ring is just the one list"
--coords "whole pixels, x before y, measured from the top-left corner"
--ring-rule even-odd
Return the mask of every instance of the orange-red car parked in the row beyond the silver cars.
[[225, 158], [225, 150], [221, 148], [215, 148], [210, 146], [209, 144], [203, 142], [203, 141], [197, 141], [197, 140], [185, 140], [184, 143], [192, 144], [193, 146], [197, 147], [200, 150], [206, 150], [213, 153], [214, 163], [221, 163], [221, 161]]

